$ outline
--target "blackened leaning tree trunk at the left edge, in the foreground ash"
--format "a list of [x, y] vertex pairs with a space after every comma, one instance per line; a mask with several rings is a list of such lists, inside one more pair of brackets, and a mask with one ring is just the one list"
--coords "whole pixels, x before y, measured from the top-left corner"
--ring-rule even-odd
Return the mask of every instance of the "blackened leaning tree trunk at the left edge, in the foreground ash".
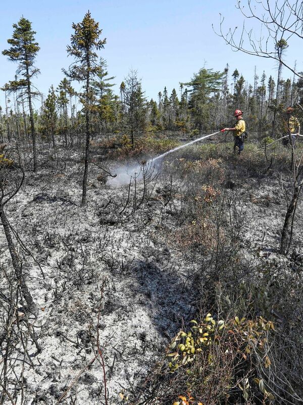
[[25, 280], [22, 275], [22, 267], [20, 265], [20, 262], [19, 262], [19, 259], [17, 256], [17, 252], [16, 252], [15, 246], [13, 244], [13, 239], [12, 239], [12, 235], [11, 235], [11, 231], [10, 231], [9, 222], [5, 215], [4, 207], [2, 205], [0, 205], [0, 216], [1, 216], [1, 222], [2, 222], [2, 225], [4, 228], [4, 233], [5, 233], [7, 242], [8, 242], [8, 247], [9, 247], [10, 255], [12, 258], [12, 263], [13, 263], [13, 267], [15, 270], [16, 278], [20, 282], [21, 291], [22, 291], [24, 299], [27, 303], [28, 309], [32, 313], [36, 314], [36, 306], [34, 304], [32, 296], [27, 288], [27, 285], [25, 284]]

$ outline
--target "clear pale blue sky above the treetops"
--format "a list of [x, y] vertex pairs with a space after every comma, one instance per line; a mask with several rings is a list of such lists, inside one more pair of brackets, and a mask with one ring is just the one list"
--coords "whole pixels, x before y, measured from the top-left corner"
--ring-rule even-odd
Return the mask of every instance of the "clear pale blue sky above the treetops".
[[[271, 0], [272, 2], [274, 0]], [[106, 59], [108, 71], [116, 76], [114, 88], [119, 86], [130, 69], [137, 70], [147, 99], [157, 99], [166, 86], [169, 94], [179, 82], [188, 82], [202, 67], [222, 71], [229, 64], [230, 74], [235, 68], [253, 83], [255, 66], [261, 77], [276, 75], [277, 64], [272, 60], [233, 52], [212, 27], [219, 29], [220, 13], [224, 26], [241, 26], [243, 18], [235, 8], [236, 0], [14, 0], [1, 2], [0, 50], [8, 48], [12, 25], [23, 15], [32, 22], [40, 51], [35, 65], [41, 73], [35, 86], [47, 95], [64, 77], [62, 68], [73, 62], [67, 57], [66, 47], [73, 32], [72, 23], [80, 22], [89, 10], [107, 38], [105, 49], [99, 55]], [[249, 20], [250, 24], [253, 24]], [[251, 26], [260, 32], [259, 26]], [[289, 41], [286, 60], [297, 61], [297, 70], [303, 70], [301, 45], [294, 38]], [[0, 86], [12, 80], [16, 64], [0, 55]], [[284, 69], [285, 77], [292, 77]], [[77, 87], [75, 85], [75, 87]], [[0, 92], [4, 107], [4, 93]]]

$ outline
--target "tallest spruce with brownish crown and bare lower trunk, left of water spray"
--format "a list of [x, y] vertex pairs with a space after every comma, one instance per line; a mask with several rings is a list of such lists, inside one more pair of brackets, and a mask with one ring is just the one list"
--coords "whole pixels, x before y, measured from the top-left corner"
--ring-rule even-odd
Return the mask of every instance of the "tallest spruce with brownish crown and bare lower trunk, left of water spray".
[[71, 35], [71, 45], [67, 47], [67, 53], [75, 58], [75, 62], [64, 73], [71, 79], [77, 80], [82, 83], [82, 92], [80, 101], [83, 105], [85, 112], [85, 126], [86, 126], [86, 144], [85, 144], [85, 158], [84, 158], [84, 174], [83, 174], [83, 187], [82, 187], [82, 202], [81, 205], [86, 204], [86, 191], [87, 191], [87, 177], [88, 177], [88, 158], [89, 158], [89, 141], [90, 141], [90, 117], [91, 110], [95, 100], [92, 88], [92, 80], [100, 72], [100, 66], [96, 64], [97, 54], [96, 51], [104, 48], [106, 39], [99, 39], [102, 29], [99, 29], [99, 23], [91, 18], [88, 11], [80, 23], [73, 23], [73, 30]]

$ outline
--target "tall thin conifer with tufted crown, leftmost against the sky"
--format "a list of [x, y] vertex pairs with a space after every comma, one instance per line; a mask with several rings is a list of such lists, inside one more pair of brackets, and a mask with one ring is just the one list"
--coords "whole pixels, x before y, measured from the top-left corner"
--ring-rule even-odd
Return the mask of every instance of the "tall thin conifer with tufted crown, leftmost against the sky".
[[8, 56], [9, 60], [18, 63], [17, 78], [9, 82], [7, 88], [10, 91], [19, 90], [20, 96], [25, 97], [28, 102], [31, 135], [33, 142], [34, 171], [37, 169], [36, 134], [34, 127], [34, 114], [32, 108], [32, 98], [38, 93], [32, 89], [32, 78], [40, 71], [34, 66], [36, 55], [40, 49], [35, 42], [35, 31], [32, 30], [31, 22], [21, 17], [17, 24], [13, 24], [13, 37], [8, 39], [10, 49], [2, 52]]

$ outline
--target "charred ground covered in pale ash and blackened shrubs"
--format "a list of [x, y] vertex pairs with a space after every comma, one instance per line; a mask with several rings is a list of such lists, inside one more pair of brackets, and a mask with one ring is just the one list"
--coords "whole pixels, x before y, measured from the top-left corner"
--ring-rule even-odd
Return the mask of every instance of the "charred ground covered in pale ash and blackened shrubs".
[[[188, 387], [172, 388], [166, 372], [155, 376], [166, 370], [178, 331], [217, 308], [214, 285], [231, 306], [241, 283], [259, 292], [268, 286], [254, 313], [294, 331], [301, 308], [283, 302], [283, 288], [289, 283], [288, 299], [299, 301], [302, 201], [291, 249], [281, 255], [290, 152], [281, 145], [267, 155], [257, 149], [249, 142], [234, 156], [231, 143], [210, 141], [153, 167], [148, 159], [156, 153], [120, 156], [94, 142], [85, 207], [82, 154], [41, 149], [37, 172], [26, 171], [5, 206], [36, 317], [20, 295], [0, 232], [1, 403], [172, 404]], [[277, 290], [274, 274], [284, 280]], [[161, 391], [162, 381], [170, 393]]]

